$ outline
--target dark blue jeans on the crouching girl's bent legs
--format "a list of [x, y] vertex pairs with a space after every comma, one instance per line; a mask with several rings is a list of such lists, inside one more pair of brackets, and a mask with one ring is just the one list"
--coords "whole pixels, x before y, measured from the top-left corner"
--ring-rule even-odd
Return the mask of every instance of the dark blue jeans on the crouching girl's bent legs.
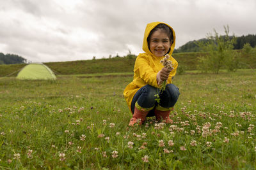
[[[155, 96], [157, 92], [160, 98], [159, 103], [157, 103]], [[177, 102], [179, 95], [179, 88], [173, 84], [167, 84], [163, 92], [160, 92], [160, 90], [157, 90], [156, 87], [152, 87], [151, 85], [145, 85], [132, 98], [132, 113], [134, 113], [136, 102], [141, 108], [155, 108], [158, 104], [163, 108], [171, 108]], [[149, 111], [147, 117], [154, 117], [154, 108]]]

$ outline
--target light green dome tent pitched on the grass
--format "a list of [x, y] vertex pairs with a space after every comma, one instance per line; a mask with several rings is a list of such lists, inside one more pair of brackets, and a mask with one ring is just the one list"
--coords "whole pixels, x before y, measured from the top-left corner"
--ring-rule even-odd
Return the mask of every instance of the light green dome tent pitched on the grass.
[[28, 64], [20, 70], [16, 78], [20, 80], [56, 80], [51, 69], [41, 63]]

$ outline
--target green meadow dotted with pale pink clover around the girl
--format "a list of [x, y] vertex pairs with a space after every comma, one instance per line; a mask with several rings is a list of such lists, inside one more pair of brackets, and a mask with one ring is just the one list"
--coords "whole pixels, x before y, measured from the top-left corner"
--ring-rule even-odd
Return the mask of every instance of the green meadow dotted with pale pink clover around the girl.
[[256, 169], [256, 70], [175, 76], [173, 124], [132, 117], [132, 75], [0, 79], [0, 169]]

